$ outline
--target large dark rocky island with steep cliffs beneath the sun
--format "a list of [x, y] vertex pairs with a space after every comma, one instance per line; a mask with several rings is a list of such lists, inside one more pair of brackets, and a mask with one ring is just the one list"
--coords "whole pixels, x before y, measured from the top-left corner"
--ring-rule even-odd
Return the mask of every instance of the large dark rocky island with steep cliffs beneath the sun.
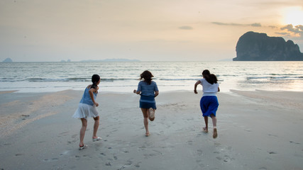
[[243, 34], [236, 45], [233, 61], [303, 61], [299, 46], [292, 40], [268, 37], [252, 31]]

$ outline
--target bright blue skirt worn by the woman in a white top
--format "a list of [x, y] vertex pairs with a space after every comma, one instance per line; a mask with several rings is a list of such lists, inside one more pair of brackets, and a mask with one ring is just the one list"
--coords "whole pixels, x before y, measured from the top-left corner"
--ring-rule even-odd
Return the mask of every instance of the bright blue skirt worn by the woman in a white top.
[[203, 117], [211, 114], [216, 116], [216, 110], [218, 110], [219, 102], [216, 96], [203, 96], [200, 101], [200, 108], [203, 113]]

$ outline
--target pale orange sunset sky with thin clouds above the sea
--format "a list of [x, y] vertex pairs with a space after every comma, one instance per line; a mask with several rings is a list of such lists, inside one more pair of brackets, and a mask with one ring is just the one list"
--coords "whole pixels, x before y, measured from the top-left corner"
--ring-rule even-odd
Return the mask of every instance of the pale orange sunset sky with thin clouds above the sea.
[[248, 31], [303, 52], [303, 1], [0, 1], [0, 61], [231, 60]]

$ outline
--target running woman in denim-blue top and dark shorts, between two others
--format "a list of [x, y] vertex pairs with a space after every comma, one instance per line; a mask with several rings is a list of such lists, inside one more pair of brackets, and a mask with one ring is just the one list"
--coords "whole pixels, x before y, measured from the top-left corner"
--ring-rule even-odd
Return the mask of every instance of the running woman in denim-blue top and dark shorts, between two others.
[[159, 90], [155, 81], [152, 81], [153, 74], [148, 70], [144, 71], [141, 74], [141, 78], [138, 84], [138, 89], [133, 90], [133, 93], [140, 94], [140, 108], [143, 113], [143, 122], [145, 127], [145, 136], [149, 136], [150, 132], [148, 131], [148, 118], [150, 121], [155, 119], [155, 110], [157, 107], [155, 106], [155, 97], [158, 96]]

